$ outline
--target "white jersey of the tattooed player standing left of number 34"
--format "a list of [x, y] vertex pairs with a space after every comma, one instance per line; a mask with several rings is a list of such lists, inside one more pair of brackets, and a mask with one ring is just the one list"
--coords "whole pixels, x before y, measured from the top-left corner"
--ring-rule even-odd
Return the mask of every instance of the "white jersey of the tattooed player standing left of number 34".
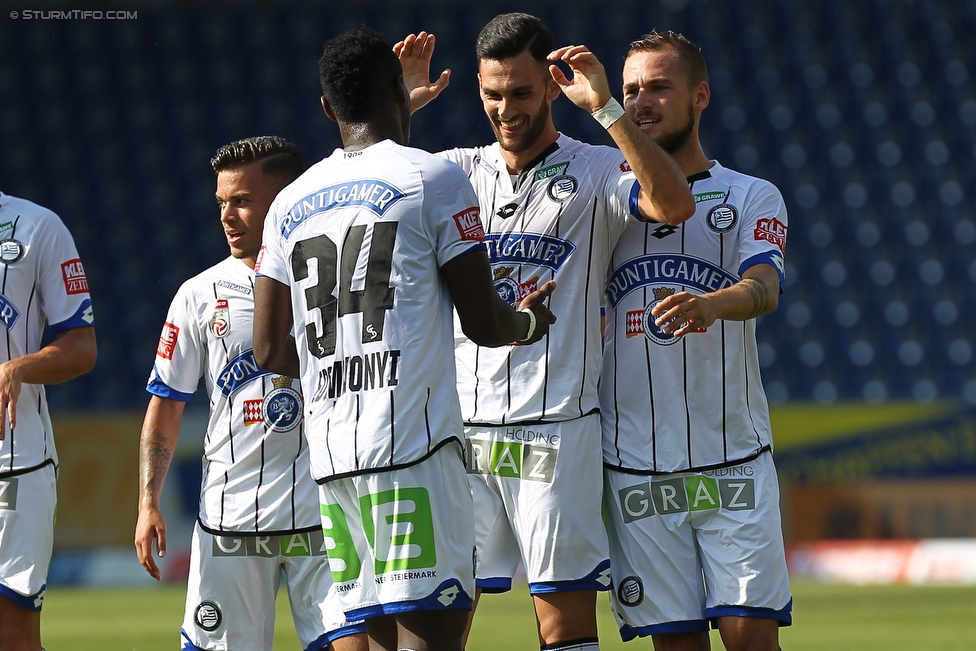
[[210, 401], [200, 522], [211, 532], [288, 533], [320, 525], [298, 380], [254, 360], [254, 272], [228, 257], [180, 287], [147, 390], [187, 401], [200, 376]]

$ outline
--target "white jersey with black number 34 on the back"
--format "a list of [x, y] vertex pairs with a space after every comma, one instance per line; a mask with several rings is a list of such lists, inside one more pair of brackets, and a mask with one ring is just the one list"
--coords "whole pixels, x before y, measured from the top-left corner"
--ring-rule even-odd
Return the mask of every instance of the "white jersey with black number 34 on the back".
[[291, 288], [316, 479], [460, 445], [440, 267], [473, 248], [484, 233], [464, 173], [389, 140], [336, 150], [275, 199], [257, 269]]

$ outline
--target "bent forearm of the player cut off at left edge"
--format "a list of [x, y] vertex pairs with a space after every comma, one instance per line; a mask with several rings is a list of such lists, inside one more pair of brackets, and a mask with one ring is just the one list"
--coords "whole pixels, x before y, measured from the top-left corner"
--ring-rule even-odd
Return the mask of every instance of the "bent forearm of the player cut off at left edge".
[[36, 353], [4, 364], [5, 371], [27, 384], [60, 384], [84, 375], [95, 366], [98, 356], [95, 329], [72, 328]]

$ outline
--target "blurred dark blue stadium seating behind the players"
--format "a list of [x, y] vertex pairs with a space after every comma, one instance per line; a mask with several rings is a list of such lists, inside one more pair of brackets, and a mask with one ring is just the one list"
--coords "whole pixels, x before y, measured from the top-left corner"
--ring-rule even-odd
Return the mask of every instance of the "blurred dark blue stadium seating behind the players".
[[[322, 41], [361, 23], [438, 36], [445, 95], [413, 144], [491, 140], [473, 43], [496, 13], [536, 13], [619, 84], [630, 40], [683, 31], [709, 61], [710, 156], [767, 178], [790, 212], [788, 278], [760, 341], [770, 399], [976, 402], [976, 2], [150, 3], [138, 18], [0, 21], [0, 188], [57, 211], [93, 292], [101, 355], [63, 409], [142, 408], [166, 307], [226, 254], [209, 157], [275, 133], [338, 146], [318, 106]], [[829, 37], [823, 36], [829, 34]], [[558, 126], [607, 142], [557, 102]]]

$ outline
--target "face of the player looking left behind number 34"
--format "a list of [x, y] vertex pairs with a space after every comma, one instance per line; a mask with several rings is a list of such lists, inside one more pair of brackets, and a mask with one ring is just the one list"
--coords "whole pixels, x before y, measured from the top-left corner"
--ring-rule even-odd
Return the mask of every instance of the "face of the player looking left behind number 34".
[[261, 170], [262, 161], [217, 173], [217, 204], [220, 223], [230, 246], [230, 253], [254, 268], [264, 218], [280, 187], [274, 177]]

